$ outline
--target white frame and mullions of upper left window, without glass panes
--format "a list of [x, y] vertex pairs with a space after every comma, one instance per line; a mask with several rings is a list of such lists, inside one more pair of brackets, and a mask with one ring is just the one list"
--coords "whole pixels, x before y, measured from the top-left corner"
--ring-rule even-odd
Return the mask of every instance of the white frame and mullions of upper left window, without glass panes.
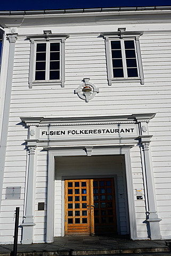
[[[29, 68], [29, 88], [33, 85], [61, 85], [64, 87], [65, 82], [65, 41], [69, 37], [66, 34], [52, 34], [51, 30], [45, 30], [42, 35], [27, 36], [31, 42], [30, 48], [30, 68]], [[47, 74], [49, 71], [50, 43], [60, 43], [60, 79], [49, 80]], [[38, 43], [46, 43], [46, 80], [35, 80], [36, 69], [36, 46]]]

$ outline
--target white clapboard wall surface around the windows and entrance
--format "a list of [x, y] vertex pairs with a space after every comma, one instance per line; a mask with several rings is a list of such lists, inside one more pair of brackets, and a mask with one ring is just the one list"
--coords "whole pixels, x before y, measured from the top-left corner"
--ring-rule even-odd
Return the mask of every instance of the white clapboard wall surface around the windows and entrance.
[[[27, 150], [25, 140], [28, 131], [20, 124], [20, 117], [27, 116], [110, 116], [131, 115], [133, 113], [157, 113], [150, 121], [150, 134], [153, 135], [151, 159], [157, 199], [157, 210], [162, 238], [171, 237], [171, 189], [170, 189], [170, 25], [159, 23], [118, 23], [111, 25], [95, 24], [86, 26], [57, 27], [25, 27], [18, 28], [19, 37], [15, 47], [13, 84], [11, 95], [11, 110], [9, 133], [7, 139], [6, 164], [0, 215], [0, 243], [13, 242], [13, 214], [16, 206], [20, 206], [20, 223], [24, 214], [25, 181], [27, 178]], [[115, 83], [108, 86], [107, 66], [105, 59], [104, 39], [100, 33], [117, 31], [118, 27], [127, 30], [144, 30], [140, 37], [142, 63], [145, 84]], [[43, 30], [52, 29], [52, 33], [67, 33], [66, 40], [66, 84], [64, 88], [58, 85], [28, 87], [30, 42], [22, 34], [42, 34]], [[166, 32], [165, 32], [166, 30]], [[84, 34], [85, 33], [85, 34]], [[6, 44], [6, 49], [7, 49]], [[7, 51], [5, 51], [7, 57]], [[6, 65], [5, 58], [2, 59]], [[6, 67], [6, 66], [5, 66]], [[4, 70], [4, 69], [3, 69]], [[90, 82], [100, 89], [96, 97], [86, 103], [74, 94], [84, 77], [90, 77]], [[5, 86], [5, 79], [1, 76]], [[1, 94], [4, 91], [1, 90]], [[3, 103], [3, 100], [2, 100]], [[1, 108], [3, 108], [1, 106]], [[47, 153], [37, 149], [37, 172], [35, 193], [35, 242], [44, 241], [45, 212], [37, 211], [37, 204], [46, 200]], [[143, 173], [139, 147], [131, 149], [132, 172], [134, 188], [143, 187]], [[102, 170], [100, 171], [102, 173]], [[109, 171], [110, 173], [110, 171]], [[118, 174], [118, 173], [116, 173]], [[61, 173], [62, 175], [62, 173]], [[121, 177], [120, 177], [121, 179]], [[118, 182], [120, 182], [118, 180]], [[20, 200], [5, 199], [7, 186], [21, 186]], [[61, 182], [55, 181], [55, 235], [60, 235]], [[58, 205], [58, 207], [57, 207]], [[145, 202], [136, 201], [137, 233], [140, 238], [147, 236], [145, 220]], [[125, 217], [124, 213], [123, 216]], [[124, 223], [124, 219], [123, 219]], [[123, 231], [124, 231], [123, 226]], [[19, 234], [20, 230], [19, 230]]]

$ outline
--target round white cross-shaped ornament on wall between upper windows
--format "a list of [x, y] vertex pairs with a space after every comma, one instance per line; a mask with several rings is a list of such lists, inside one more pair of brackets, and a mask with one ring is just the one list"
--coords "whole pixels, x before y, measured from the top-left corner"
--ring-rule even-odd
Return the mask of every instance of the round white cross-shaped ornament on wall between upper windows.
[[96, 88], [94, 84], [89, 82], [90, 78], [84, 78], [83, 83], [78, 86], [75, 90], [75, 93], [78, 94], [78, 97], [82, 100], [88, 102], [93, 99], [96, 93], [99, 93], [99, 88]]

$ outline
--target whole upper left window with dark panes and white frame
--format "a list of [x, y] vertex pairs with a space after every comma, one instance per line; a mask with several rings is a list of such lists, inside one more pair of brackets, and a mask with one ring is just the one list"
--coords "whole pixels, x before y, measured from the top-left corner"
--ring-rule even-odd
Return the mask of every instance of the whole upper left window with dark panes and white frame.
[[31, 41], [29, 87], [32, 85], [60, 84], [64, 87], [64, 43], [69, 35], [28, 36]]

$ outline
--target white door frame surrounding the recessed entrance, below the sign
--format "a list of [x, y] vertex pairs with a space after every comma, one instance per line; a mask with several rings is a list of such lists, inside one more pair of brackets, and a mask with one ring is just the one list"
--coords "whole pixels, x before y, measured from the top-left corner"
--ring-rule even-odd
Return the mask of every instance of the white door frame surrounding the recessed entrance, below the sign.
[[[125, 172], [127, 184], [127, 199], [129, 212], [129, 229], [131, 239], [137, 238], [136, 216], [134, 205], [134, 189], [131, 167], [130, 148], [134, 144], [126, 146], [94, 146], [92, 155], [124, 155], [125, 156]], [[54, 241], [54, 181], [55, 181], [55, 156], [87, 156], [85, 146], [76, 147], [46, 147], [48, 151], [48, 178], [47, 178], [47, 210], [46, 210], [46, 243]], [[88, 156], [87, 156], [88, 157]], [[83, 176], [82, 176], [83, 177]], [[62, 178], [62, 177], [61, 177]], [[67, 177], [69, 178], [69, 177]], [[74, 178], [74, 177], [71, 177]], [[64, 182], [62, 182], [62, 190], [64, 191]], [[63, 193], [64, 194], [64, 193]], [[64, 195], [62, 195], [64, 202]], [[64, 207], [63, 207], [64, 208]], [[62, 216], [64, 209], [62, 210]], [[61, 226], [64, 227], [64, 218]], [[53, 227], [53, 228], [52, 228]], [[61, 236], [64, 236], [64, 229], [61, 228]]]

